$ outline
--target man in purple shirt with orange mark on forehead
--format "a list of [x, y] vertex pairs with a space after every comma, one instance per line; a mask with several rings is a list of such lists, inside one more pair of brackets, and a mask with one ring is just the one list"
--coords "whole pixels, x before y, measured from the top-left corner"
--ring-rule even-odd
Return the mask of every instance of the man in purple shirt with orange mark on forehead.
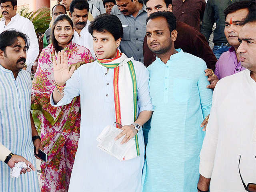
[[212, 70], [206, 70], [206, 76], [211, 82], [208, 88], [214, 88], [218, 80], [226, 76], [238, 73], [245, 68], [241, 66], [238, 53], [240, 42], [238, 41], [238, 34], [242, 28], [242, 22], [246, 18], [249, 12], [255, 11], [254, 1], [241, 1], [230, 4], [226, 10], [225, 14], [225, 28], [224, 33], [231, 45], [227, 52], [222, 53], [220, 58], [216, 63], [215, 74]]

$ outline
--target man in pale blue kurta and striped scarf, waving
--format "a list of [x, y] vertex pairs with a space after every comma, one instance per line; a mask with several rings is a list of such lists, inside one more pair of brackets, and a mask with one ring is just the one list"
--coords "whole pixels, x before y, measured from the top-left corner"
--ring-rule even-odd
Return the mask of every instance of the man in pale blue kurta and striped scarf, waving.
[[[89, 32], [96, 61], [74, 72], [74, 68], [69, 70], [62, 51], [54, 62], [56, 87], [51, 104], [65, 105], [81, 96], [80, 139], [69, 191], [141, 191], [144, 140], [140, 130], [153, 111], [149, 74], [141, 62], [119, 52], [123, 28], [116, 16], [96, 17]], [[97, 136], [113, 122], [123, 125], [115, 140], [120, 138], [125, 143], [132, 139], [136, 143], [134, 158], [128, 160], [125, 156], [120, 161], [97, 148]]]

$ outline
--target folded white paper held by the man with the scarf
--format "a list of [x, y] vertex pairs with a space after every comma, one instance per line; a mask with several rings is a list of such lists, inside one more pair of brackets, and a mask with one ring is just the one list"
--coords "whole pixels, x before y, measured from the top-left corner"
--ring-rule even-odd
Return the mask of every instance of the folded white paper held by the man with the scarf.
[[98, 148], [116, 157], [118, 160], [129, 160], [137, 156], [135, 138], [131, 138], [127, 143], [120, 144], [124, 138], [114, 140], [123, 130], [112, 125], [106, 126], [97, 137]]

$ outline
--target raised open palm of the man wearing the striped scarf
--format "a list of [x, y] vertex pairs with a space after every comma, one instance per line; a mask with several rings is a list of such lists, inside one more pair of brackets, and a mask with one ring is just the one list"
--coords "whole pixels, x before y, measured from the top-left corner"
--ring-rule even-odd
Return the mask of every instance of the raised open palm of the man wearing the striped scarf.
[[56, 84], [62, 86], [74, 73], [75, 67], [72, 66], [69, 70], [68, 67], [68, 55], [64, 50], [58, 52], [57, 61], [55, 56], [52, 59], [53, 73]]

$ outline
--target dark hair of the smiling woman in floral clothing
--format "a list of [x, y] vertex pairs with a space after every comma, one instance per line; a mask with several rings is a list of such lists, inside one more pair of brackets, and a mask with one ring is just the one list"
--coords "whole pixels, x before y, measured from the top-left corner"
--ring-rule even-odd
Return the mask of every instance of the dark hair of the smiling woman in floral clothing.
[[[69, 24], [71, 25], [72, 29], [74, 29], [74, 24], [67, 14], [60, 14], [58, 17], [56, 17], [56, 19], [54, 20], [54, 22], [52, 24], [52, 34], [51, 34], [52, 46], [54, 47], [56, 52], [61, 51], [63, 48], [58, 45], [58, 41], [56, 40], [56, 38], [54, 36], [54, 29], [56, 27], [57, 22], [63, 21], [63, 20], [67, 20], [69, 22]], [[72, 41], [73, 37], [74, 37], [74, 35], [72, 36], [72, 38], [70, 39], [70, 41], [68, 43], [70, 43]]]

